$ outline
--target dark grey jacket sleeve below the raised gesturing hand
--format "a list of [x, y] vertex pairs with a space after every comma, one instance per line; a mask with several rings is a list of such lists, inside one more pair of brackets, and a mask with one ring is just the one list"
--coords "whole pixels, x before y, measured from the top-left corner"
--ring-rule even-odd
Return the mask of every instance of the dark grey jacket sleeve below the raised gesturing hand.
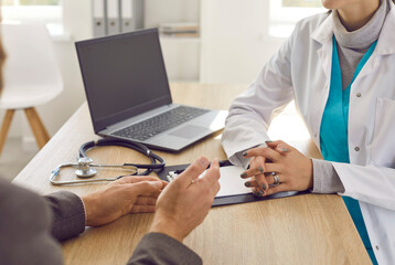
[[202, 264], [202, 258], [179, 241], [161, 233], [146, 234], [128, 265]]

